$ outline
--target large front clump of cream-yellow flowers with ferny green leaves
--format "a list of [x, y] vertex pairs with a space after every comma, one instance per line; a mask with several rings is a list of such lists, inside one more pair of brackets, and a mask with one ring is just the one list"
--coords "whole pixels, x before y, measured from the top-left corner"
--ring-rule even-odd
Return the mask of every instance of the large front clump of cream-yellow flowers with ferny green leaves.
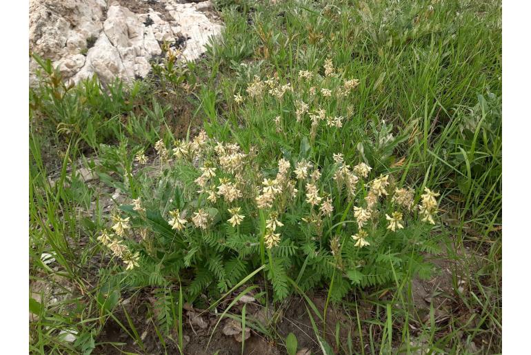
[[260, 167], [256, 152], [204, 131], [172, 154], [162, 141], [156, 148], [156, 188], [121, 206], [113, 233], [99, 236], [127, 269], [193, 270], [190, 296], [197, 296], [213, 283], [226, 292], [262, 264], [276, 298], [288, 295], [288, 278], [302, 290], [334, 278], [339, 300], [352, 285], [385, 283], [411, 261], [421, 265], [439, 196], [428, 188], [415, 205], [414, 190], [392, 174], [371, 176], [369, 165], [351, 167], [340, 152], [323, 166], [284, 156]]

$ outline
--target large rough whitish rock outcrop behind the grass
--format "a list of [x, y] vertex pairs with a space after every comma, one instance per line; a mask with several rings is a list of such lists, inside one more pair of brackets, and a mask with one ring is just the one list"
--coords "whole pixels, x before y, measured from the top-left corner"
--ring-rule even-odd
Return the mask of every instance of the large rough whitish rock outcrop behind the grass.
[[[221, 33], [210, 8], [210, 1], [30, 0], [30, 51], [50, 59], [67, 81], [94, 74], [105, 84], [130, 81], [146, 77], [164, 41], [180, 47], [183, 61], [198, 59]], [[30, 85], [36, 68], [30, 59]]]

